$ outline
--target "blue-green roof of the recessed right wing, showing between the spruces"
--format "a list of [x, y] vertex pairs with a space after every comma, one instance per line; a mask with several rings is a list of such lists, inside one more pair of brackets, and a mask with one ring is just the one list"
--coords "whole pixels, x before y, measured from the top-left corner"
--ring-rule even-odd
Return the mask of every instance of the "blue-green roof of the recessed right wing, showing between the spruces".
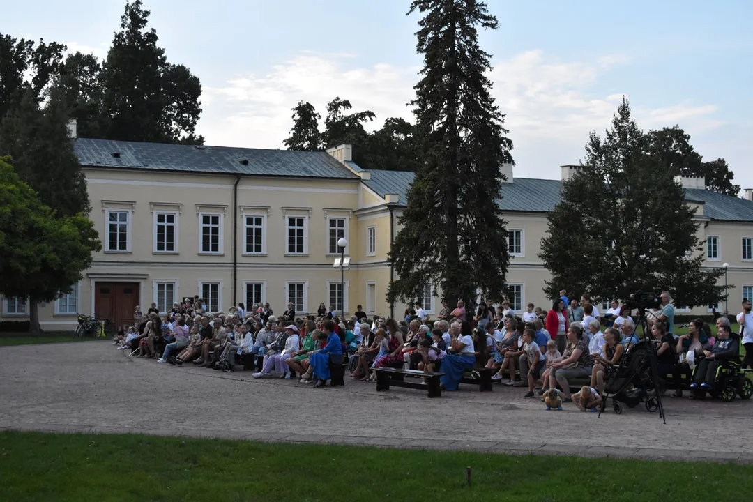
[[[370, 171], [371, 179], [364, 181], [371, 190], [386, 196], [397, 193], [400, 205], [407, 205], [407, 190], [413, 182], [413, 172]], [[503, 183], [502, 198], [498, 201], [502, 211], [549, 212], [559, 203], [562, 181], [536, 178], [513, 178]], [[753, 222], [753, 202], [712, 190], [686, 189], [685, 199], [703, 203], [703, 214], [712, 220]]]

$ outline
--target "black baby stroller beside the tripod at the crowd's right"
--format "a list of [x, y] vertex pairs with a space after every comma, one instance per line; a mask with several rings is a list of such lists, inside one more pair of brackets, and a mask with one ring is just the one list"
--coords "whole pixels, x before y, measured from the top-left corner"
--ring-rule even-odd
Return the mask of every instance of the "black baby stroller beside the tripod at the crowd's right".
[[[656, 375], [656, 355], [651, 341], [642, 339], [630, 348], [624, 356], [622, 364], [604, 388], [604, 400], [612, 400], [612, 408], [618, 415], [622, 413], [623, 404], [628, 408], [635, 408], [645, 403], [649, 412], [660, 409], [659, 399], [656, 397], [658, 381]], [[654, 395], [649, 396], [653, 393]], [[602, 410], [605, 404], [602, 405]]]

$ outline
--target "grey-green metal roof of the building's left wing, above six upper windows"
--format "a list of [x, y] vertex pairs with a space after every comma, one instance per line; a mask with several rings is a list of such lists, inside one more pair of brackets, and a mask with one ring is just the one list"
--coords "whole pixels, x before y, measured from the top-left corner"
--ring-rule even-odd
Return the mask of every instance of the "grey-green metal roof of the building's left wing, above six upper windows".
[[258, 176], [358, 179], [326, 152], [195, 147], [78, 138], [82, 166]]

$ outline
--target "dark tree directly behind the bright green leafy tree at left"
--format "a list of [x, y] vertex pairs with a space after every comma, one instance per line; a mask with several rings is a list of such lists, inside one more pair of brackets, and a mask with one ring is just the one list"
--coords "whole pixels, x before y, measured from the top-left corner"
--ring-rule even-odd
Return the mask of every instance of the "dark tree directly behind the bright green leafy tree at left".
[[0, 124], [0, 156], [13, 159], [18, 175], [61, 216], [87, 214], [87, 182], [68, 134], [68, 106], [53, 87], [41, 108], [32, 89]]

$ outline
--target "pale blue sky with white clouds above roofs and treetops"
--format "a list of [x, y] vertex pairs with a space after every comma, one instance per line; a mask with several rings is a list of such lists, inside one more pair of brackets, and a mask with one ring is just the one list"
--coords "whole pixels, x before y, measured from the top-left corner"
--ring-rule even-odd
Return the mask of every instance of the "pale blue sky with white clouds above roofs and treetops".
[[[202, 81], [198, 129], [210, 145], [279, 148], [299, 100], [334, 96], [411, 118], [421, 59], [403, 0], [145, 0], [171, 62]], [[753, 2], [508, 2], [483, 32], [493, 94], [508, 114], [515, 175], [558, 178], [603, 132], [622, 95], [642, 129], [678, 124], [707, 160], [753, 187]], [[3, 7], [3, 30], [106, 53], [122, 0], [36, 0]]]

